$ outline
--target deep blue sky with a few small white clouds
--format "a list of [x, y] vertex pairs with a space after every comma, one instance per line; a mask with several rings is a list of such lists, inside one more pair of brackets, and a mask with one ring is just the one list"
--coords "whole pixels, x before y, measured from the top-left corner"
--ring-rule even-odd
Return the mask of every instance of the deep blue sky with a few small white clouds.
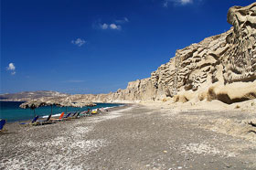
[[125, 89], [251, 0], [2, 0], [1, 93]]

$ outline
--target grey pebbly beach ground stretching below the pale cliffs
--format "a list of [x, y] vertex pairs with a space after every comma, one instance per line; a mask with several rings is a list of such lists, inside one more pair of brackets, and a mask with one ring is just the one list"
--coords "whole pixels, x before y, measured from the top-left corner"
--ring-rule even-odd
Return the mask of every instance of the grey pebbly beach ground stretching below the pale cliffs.
[[9, 123], [0, 169], [256, 169], [252, 113], [178, 107], [130, 104], [43, 126]]

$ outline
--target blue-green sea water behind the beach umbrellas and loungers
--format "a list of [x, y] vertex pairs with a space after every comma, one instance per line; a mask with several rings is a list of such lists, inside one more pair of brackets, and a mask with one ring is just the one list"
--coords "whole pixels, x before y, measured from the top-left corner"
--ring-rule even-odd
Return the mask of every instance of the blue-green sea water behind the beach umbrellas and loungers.
[[[0, 119], [6, 119], [7, 122], [19, 122], [27, 121], [33, 119], [35, 115], [38, 115], [40, 118], [47, 118], [51, 113], [51, 106], [44, 106], [37, 108], [35, 112], [33, 110], [19, 108], [19, 105], [25, 101], [0, 101]], [[97, 108], [112, 108], [122, 106], [121, 103], [96, 103], [97, 106], [93, 107], [83, 107], [83, 108], [74, 108], [67, 107], [67, 112], [82, 112], [87, 111], [88, 109], [97, 109]], [[66, 107], [52, 107], [52, 116], [59, 116], [61, 112], [66, 113]]]

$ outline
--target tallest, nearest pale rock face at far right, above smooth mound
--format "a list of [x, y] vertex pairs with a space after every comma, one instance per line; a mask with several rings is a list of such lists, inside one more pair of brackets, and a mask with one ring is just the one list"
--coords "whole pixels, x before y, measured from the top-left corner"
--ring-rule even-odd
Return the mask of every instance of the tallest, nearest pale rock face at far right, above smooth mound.
[[229, 50], [223, 58], [225, 82], [256, 78], [256, 3], [229, 8], [228, 22], [234, 29], [227, 37]]

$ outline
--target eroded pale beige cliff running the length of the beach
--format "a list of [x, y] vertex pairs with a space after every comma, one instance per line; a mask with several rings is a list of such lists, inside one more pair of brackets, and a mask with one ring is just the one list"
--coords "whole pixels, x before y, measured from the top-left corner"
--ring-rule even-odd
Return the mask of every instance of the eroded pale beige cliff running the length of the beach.
[[256, 98], [256, 3], [229, 8], [229, 31], [207, 37], [161, 65], [144, 80], [109, 94], [73, 95], [69, 101], [219, 100]]

